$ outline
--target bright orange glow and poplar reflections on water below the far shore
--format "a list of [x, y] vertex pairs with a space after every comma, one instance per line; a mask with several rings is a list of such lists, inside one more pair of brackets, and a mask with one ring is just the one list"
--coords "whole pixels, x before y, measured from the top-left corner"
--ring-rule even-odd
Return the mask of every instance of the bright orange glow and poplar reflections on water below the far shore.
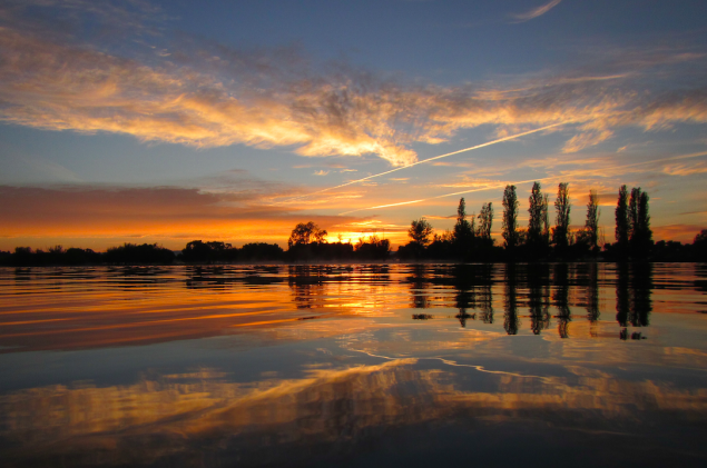
[[[654, 268], [659, 268], [659, 279], [674, 278], [656, 283]], [[455, 308], [462, 327], [469, 320], [493, 325], [500, 309], [508, 335], [523, 328], [542, 335], [556, 328], [559, 337], [571, 338], [572, 321], [587, 320], [590, 336], [598, 337], [610, 295], [620, 327], [616, 337], [646, 338], [642, 328], [650, 323], [656, 289], [704, 290], [700, 268], [676, 268], [541, 263], [4, 269], [0, 346], [28, 350], [159, 342], [287, 323], [310, 318], [307, 312], [382, 317], [401, 308]], [[690, 302], [680, 307], [685, 303]], [[587, 313], [580, 316], [579, 307]]]

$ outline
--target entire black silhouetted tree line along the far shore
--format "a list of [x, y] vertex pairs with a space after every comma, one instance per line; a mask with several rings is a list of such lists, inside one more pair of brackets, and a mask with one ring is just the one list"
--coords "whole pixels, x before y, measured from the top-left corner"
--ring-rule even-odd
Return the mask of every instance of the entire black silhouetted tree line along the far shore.
[[432, 225], [420, 218], [407, 230], [410, 241], [391, 251], [389, 239], [372, 235], [359, 242], [327, 242], [328, 232], [316, 223], [301, 222], [292, 230], [287, 250], [271, 243], [246, 243], [240, 248], [220, 241], [194, 240], [180, 252], [156, 243], [124, 243], [106, 252], [61, 246], [47, 251], [17, 247], [14, 252], [0, 251], [2, 266], [53, 265], [170, 265], [232, 262], [351, 262], [351, 261], [707, 261], [707, 229], [693, 243], [658, 241], [650, 229], [649, 197], [640, 187], [618, 191], [615, 209], [616, 241], [601, 242], [599, 197], [589, 191], [585, 223], [570, 228], [572, 211], [569, 183], [558, 185], [554, 219], [550, 222], [548, 195], [534, 182], [529, 197], [528, 227], [518, 223], [519, 206], [515, 186], [503, 190], [501, 245], [491, 232], [494, 209], [484, 203], [479, 215], [467, 213], [464, 199], [459, 200], [456, 222], [452, 230], [436, 233]]

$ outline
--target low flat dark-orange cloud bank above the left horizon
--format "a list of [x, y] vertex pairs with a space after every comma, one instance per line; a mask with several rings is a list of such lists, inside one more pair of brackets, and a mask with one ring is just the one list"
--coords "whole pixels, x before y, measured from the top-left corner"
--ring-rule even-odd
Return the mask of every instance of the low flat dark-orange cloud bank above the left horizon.
[[267, 203], [273, 195], [277, 193], [269, 188], [253, 187], [213, 192], [180, 187], [0, 186], [0, 248], [11, 249], [18, 239], [29, 238], [139, 237], [178, 248], [184, 239], [200, 238], [282, 245], [305, 218], [323, 228], [353, 219], [311, 216], [296, 206], [274, 207]]

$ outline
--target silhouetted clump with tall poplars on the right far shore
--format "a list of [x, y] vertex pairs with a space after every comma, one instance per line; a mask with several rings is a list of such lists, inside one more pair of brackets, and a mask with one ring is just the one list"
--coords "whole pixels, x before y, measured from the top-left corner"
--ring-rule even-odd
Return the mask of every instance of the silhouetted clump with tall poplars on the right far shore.
[[707, 261], [707, 230], [691, 245], [677, 241], [654, 242], [650, 229], [649, 197], [640, 187], [621, 186], [615, 209], [616, 242], [602, 242], [601, 210], [596, 190], [589, 191], [585, 223], [570, 228], [572, 203], [569, 183], [558, 185], [554, 219], [550, 222], [549, 197], [534, 182], [528, 199], [528, 226], [518, 222], [520, 202], [515, 186], [503, 190], [501, 245], [491, 237], [494, 211], [491, 202], [480, 213], [467, 215], [464, 199], [456, 209], [451, 231], [435, 233], [424, 218], [413, 220], [410, 242], [399, 249], [403, 259], [455, 259], [462, 261], [554, 261], [603, 259], [608, 261]]

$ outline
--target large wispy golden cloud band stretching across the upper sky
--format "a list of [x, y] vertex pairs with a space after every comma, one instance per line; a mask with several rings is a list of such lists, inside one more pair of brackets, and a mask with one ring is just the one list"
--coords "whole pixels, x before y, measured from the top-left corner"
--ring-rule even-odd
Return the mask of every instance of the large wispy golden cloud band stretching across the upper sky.
[[[43, 4], [91, 14], [98, 8], [50, 1], [33, 8]], [[17, 3], [0, 13], [0, 120], [40, 129], [125, 133], [196, 148], [284, 147], [306, 157], [375, 155], [402, 167], [418, 160], [413, 145], [438, 145], [481, 126], [502, 137], [569, 123], [562, 131], [576, 131], [563, 150], [576, 152], [621, 127], [659, 131], [707, 122], [704, 76], [679, 92], [646, 92], [642, 82], [631, 81], [647, 67], [661, 64], [665, 74], [666, 67], [705, 61], [693, 52], [646, 53], [634, 59], [630, 72], [580, 69], [505, 88], [440, 87], [345, 64], [315, 67], [297, 48], [235, 50], [157, 33], [164, 26], [150, 36], [140, 29], [148, 14], [100, 13], [120, 20], [121, 34], [139, 31], [134, 36], [143, 49], [125, 57], [110, 34], [79, 42], [79, 34], [62, 33], [28, 11]], [[81, 16], [75, 20], [80, 24]]]

